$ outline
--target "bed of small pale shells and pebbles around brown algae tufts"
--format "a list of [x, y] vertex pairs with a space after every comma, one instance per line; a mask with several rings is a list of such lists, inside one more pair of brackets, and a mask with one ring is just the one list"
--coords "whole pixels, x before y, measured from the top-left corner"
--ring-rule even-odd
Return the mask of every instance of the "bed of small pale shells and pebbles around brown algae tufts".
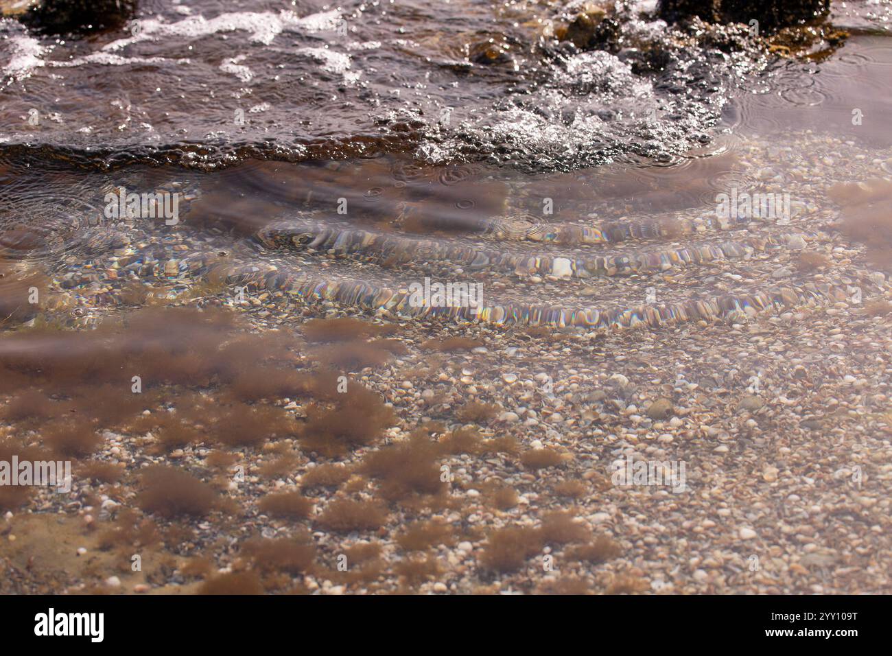
[[[601, 262], [590, 271], [598, 275], [580, 281], [556, 275], [555, 259], [537, 258], [523, 271], [514, 262], [509, 272], [485, 264], [487, 284], [509, 302], [488, 302], [473, 318], [463, 313], [467, 309], [406, 306], [399, 278], [414, 279], [426, 260], [383, 271], [376, 263], [380, 248], [371, 262], [347, 257], [368, 253], [363, 248], [377, 237], [362, 237], [364, 246], [352, 250], [277, 249], [261, 261], [257, 253], [266, 253], [262, 244], [269, 244], [270, 233], [227, 253], [188, 235], [159, 247], [131, 235], [117, 249], [95, 249], [86, 264], [70, 262], [54, 280], [54, 294], [64, 296], [54, 305], [78, 327], [110, 313], [134, 280], [174, 304], [230, 307], [260, 332], [300, 336], [307, 320], [358, 315], [396, 326], [392, 338], [404, 352], [383, 365], [343, 372], [380, 394], [397, 418], [381, 445], [346, 455], [348, 467], [375, 448], [406, 441], [418, 428], [439, 423], [445, 434], [465, 426], [458, 410], [472, 402], [497, 411], [468, 424], [484, 438], [514, 437], [522, 451], [443, 456], [438, 466], [451, 475], [447, 502], [390, 504], [384, 527], [347, 534], [318, 524], [340, 498], [336, 490], [312, 494], [310, 518], [302, 521], [258, 509], [265, 494], [300, 486], [318, 459], [295, 444], [292, 469], [268, 477], [260, 468], [276, 455], [272, 446], [235, 451], [245, 476], [228, 482], [225, 494], [243, 514], [181, 520], [191, 531], [188, 539], [146, 556], [155, 564], [145, 573], [105, 569], [87, 526], [113, 517], [135, 491], [75, 480], [70, 495], [42, 491], [0, 519], [0, 590], [194, 592], [200, 581], [184, 574], [191, 559], [207, 558], [217, 572], [241, 571], [246, 565], [238, 544], [245, 536], [292, 536], [309, 527], [318, 561], [328, 569], [294, 576], [292, 585], [311, 594], [888, 594], [892, 314], [882, 308], [892, 301], [892, 287], [865, 259], [863, 245], [832, 229], [839, 209], [826, 200], [826, 190], [833, 181], [888, 179], [890, 162], [832, 137], [806, 133], [791, 142], [796, 145], [743, 148], [747, 170], [758, 179], [782, 175], [784, 190], [804, 211], [790, 226], [729, 227], [746, 236], [748, 248], [735, 252], [739, 262], [692, 257], [678, 271], [660, 264], [653, 267], [658, 273], [644, 276], [629, 266], [634, 260], [619, 255], [627, 258], [622, 263], [630, 275], [614, 279], [611, 265]], [[698, 224], [684, 212], [675, 218]], [[695, 233], [703, 235], [692, 228]], [[275, 235], [272, 241], [281, 246], [282, 231]], [[318, 245], [339, 237], [344, 233], [326, 233]], [[794, 258], [805, 249], [822, 253], [826, 266], [798, 269]], [[467, 266], [455, 253], [443, 254]], [[376, 271], [376, 282], [357, 282], [368, 279], [369, 270]], [[233, 288], [244, 285], [239, 303]], [[576, 286], [568, 291], [570, 285]], [[586, 286], [592, 288], [587, 293]], [[642, 303], [648, 286], [658, 303]], [[592, 296], [604, 309], [575, 305]], [[445, 353], [424, 346], [455, 336], [473, 345]], [[306, 414], [297, 400], [277, 403], [298, 420]], [[157, 455], [145, 452], [151, 443], [151, 436], [108, 434], [94, 459], [128, 473], [152, 463], [207, 467], [206, 445]], [[541, 469], [524, 464], [524, 453], [541, 450], [558, 453], [558, 461]], [[684, 463], [684, 490], [617, 483], [616, 463], [628, 461]], [[516, 491], [510, 507], [492, 502], [496, 482]], [[368, 480], [347, 485], [359, 498], [375, 498]], [[88, 500], [98, 500], [98, 507]], [[540, 527], [552, 511], [569, 512], [586, 535], [614, 541], [615, 552], [604, 561], [585, 561], [570, 539], [547, 544], [512, 571], [483, 566], [494, 532]], [[77, 560], [63, 577], [30, 573], [27, 552], [17, 546], [36, 518], [70, 528], [60, 548], [70, 547]], [[422, 573], [413, 574], [400, 563], [419, 556], [397, 538], [419, 520], [441, 523], [449, 537], [430, 545], [428, 569], [419, 565]], [[380, 575], [335, 576], [338, 555], [367, 543], [381, 546]]]

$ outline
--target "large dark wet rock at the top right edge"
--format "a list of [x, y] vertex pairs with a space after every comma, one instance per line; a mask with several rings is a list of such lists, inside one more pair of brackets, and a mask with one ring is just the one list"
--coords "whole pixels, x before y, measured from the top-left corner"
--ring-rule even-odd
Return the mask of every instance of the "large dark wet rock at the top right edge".
[[660, 0], [657, 11], [667, 21], [695, 16], [709, 22], [758, 21], [760, 30], [776, 30], [829, 12], [830, 0]]

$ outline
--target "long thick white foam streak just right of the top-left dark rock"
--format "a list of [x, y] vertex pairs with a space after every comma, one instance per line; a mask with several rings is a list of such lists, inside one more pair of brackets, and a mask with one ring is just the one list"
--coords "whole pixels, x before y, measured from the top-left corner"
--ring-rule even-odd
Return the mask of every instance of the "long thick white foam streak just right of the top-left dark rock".
[[134, 34], [119, 38], [103, 47], [103, 50], [120, 50], [140, 41], [159, 38], [195, 38], [220, 32], [246, 31], [251, 40], [268, 46], [284, 31], [320, 32], [335, 30], [341, 12], [333, 9], [310, 16], [300, 17], [290, 10], [271, 12], [230, 12], [208, 20], [201, 15], [189, 16], [182, 21], [165, 23], [157, 19], [140, 19], [133, 22]]

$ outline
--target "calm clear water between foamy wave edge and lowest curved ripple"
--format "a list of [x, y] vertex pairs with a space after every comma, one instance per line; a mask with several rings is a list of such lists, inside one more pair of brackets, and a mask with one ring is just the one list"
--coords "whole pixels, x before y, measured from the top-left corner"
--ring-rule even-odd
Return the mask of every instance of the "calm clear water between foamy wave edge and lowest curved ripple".
[[[827, 195], [834, 183], [888, 177], [892, 137], [880, 117], [892, 109], [890, 57], [888, 37], [864, 35], [822, 62], [773, 62], [726, 98], [706, 145], [657, 164], [624, 154], [593, 168], [531, 172], [379, 153], [103, 173], [60, 162], [58, 150], [50, 161], [42, 147], [20, 155], [20, 144], [5, 155], [4, 256], [21, 270], [68, 278], [64, 288], [85, 315], [101, 315], [134, 280], [172, 298], [211, 270], [260, 287], [277, 288], [284, 276], [310, 301], [409, 315], [419, 311], [407, 305], [413, 282], [483, 282], [483, 313], [420, 311], [556, 326], [771, 310], [782, 294], [832, 300], [846, 286], [841, 278], [817, 288], [807, 271], [771, 276], [795, 264], [800, 239], [822, 248], [815, 230], [836, 207]], [[50, 129], [59, 133], [45, 136], [53, 149], [72, 137]], [[95, 138], [132, 154], [117, 137]], [[178, 195], [177, 224], [109, 218], [106, 195], [121, 187]], [[787, 195], [791, 216], [719, 216], [717, 197], [732, 188]], [[103, 276], [111, 270], [116, 278]], [[270, 283], [273, 271], [280, 275]], [[97, 286], [105, 291], [84, 291]]]

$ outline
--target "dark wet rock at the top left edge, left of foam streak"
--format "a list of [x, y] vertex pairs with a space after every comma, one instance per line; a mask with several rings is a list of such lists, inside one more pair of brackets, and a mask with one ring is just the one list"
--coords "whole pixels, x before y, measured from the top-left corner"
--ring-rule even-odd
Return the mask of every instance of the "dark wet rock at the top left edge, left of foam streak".
[[136, 12], [136, 0], [40, 0], [21, 21], [47, 34], [120, 28]]

